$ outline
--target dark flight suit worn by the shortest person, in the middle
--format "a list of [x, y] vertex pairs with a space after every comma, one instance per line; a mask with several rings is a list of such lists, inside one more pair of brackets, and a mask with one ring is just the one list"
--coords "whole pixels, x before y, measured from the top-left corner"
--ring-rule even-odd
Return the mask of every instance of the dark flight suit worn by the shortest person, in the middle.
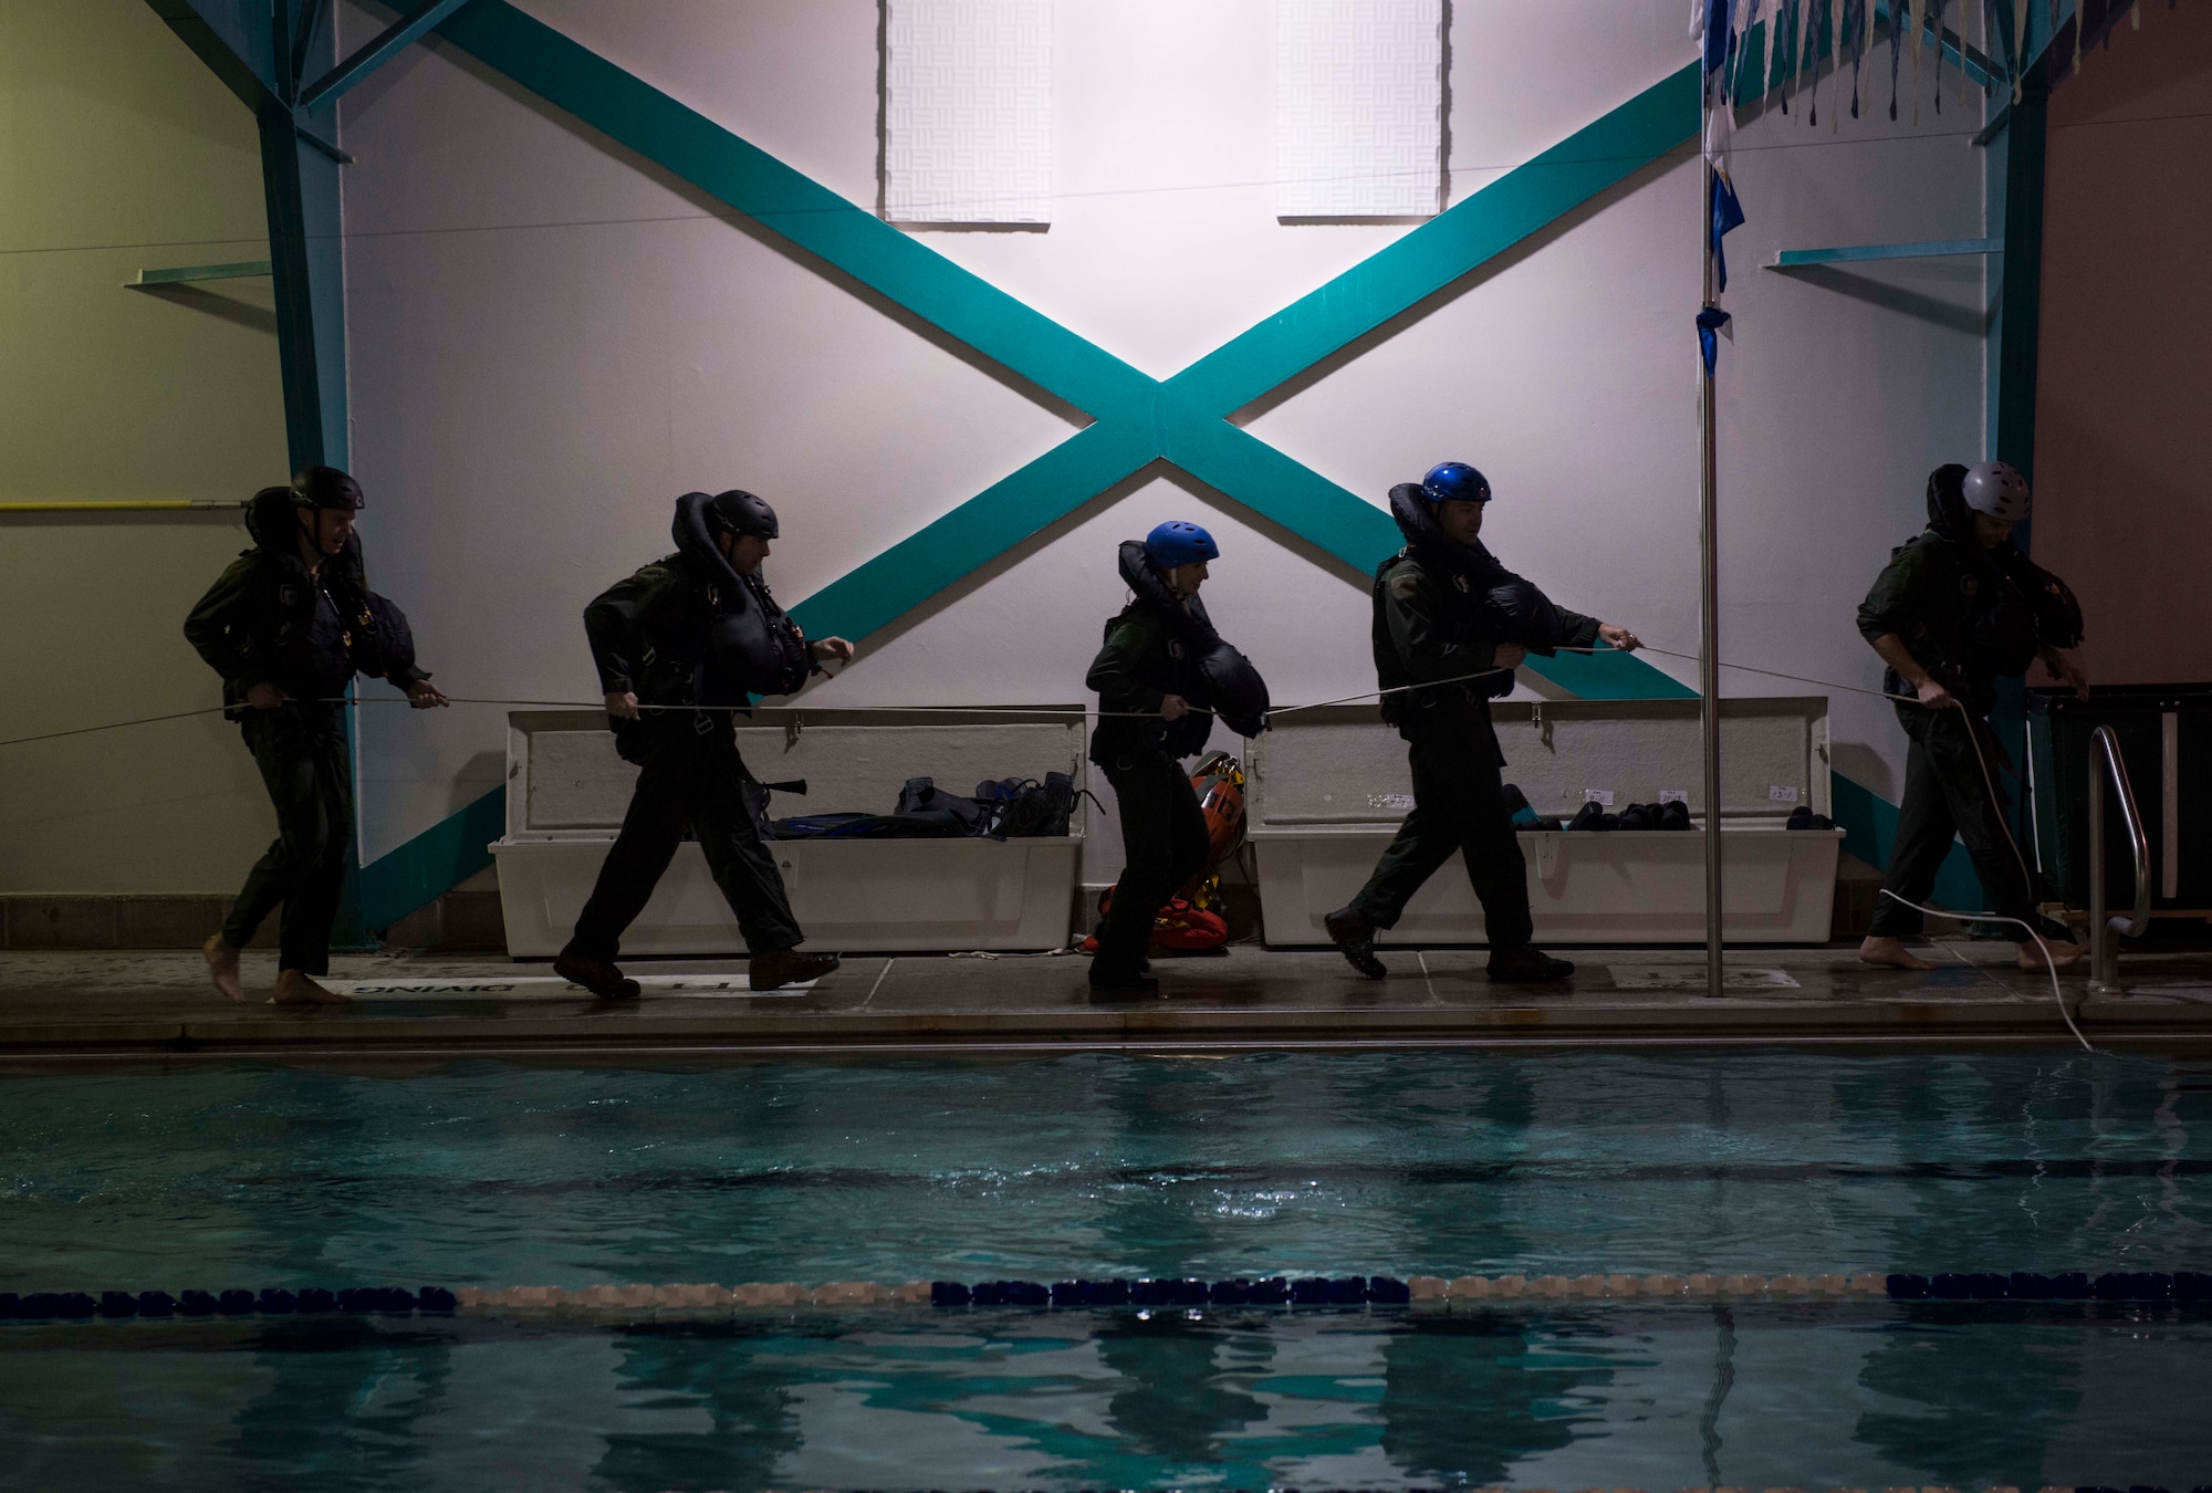
[[1199, 794], [1179, 759], [1206, 745], [1214, 717], [1192, 710], [1179, 721], [1159, 719], [1159, 701], [1166, 695], [1190, 699], [1197, 681], [1188, 646], [1148, 602], [1130, 602], [1106, 624], [1106, 646], [1084, 683], [1097, 690], [1102, 712], [1091, 761], [1113, 783], [1128, 858], [1091, 962], [1093, 980], [1110, 980], [1144, 967], [1152, 920], [1175, 889], [1203, 869], [1212, 849]]

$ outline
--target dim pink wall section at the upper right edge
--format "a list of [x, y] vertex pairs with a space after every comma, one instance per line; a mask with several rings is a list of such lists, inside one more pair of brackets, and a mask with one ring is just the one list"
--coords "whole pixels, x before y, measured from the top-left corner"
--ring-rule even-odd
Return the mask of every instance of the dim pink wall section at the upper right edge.
[[2090, 677], [2212, 679], [2212, 4], [2148, 0], [2051, 93], [2039, 363], [2033, 549]]

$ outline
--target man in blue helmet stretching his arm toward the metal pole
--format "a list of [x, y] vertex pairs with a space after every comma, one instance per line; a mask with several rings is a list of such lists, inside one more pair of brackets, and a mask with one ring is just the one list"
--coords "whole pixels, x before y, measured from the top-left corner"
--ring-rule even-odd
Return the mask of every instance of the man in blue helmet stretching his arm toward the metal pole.
[[1453, 854], [1482, 902], [1491, 980], [1566, 980], [1575, 967], [1542, 953], [1528, 916], [1528, 869], [1504, 803], [1504, 752], [1491, 730], [1491, 699], [1513, 688], [1531, 652], [1637, 648], [1628, 628], [1553, 606], [1482, 546], [1489, 480], [1467, 462], [1433, 467], [1391, 489], [1405, 549], [1376, 568], [1374, 655], [1383, 719], [1407, 741], [1413, 812], [1383, 852], [1374, 876], [1323, 922], [1345, 960], [1383, 980], [1376, 931], [1398, 925], [1405, 905]]

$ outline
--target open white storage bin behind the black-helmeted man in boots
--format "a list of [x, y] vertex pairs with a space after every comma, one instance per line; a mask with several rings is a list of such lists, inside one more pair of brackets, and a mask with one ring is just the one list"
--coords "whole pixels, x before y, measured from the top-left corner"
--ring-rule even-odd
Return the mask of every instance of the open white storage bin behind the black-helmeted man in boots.
[[[907, 779], [956, 794], [984, 779], [1068, 772], [1084, 781], [1082, 717], [754, 710], [739, 750], [776, 794], [774, 816], [887, 814]], [[544, 958], [568, 942], [591, 896], [637, 768], [615, 756], [593, 710], [518, 710], [507, 719], [507, 834], [500, 867], [507, 951]], [[1062, 838], [772, 841], [807, 949], [1055, 949], [1068, 942], [1084, 801]], [[737, 953], [745, 944], [695, 841], [684, 841], [624, 953]]]

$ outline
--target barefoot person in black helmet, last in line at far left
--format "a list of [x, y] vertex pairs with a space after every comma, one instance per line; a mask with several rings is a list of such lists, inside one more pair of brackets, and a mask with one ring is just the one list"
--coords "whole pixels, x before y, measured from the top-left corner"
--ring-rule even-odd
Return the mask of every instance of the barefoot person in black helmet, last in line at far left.
[[361, 484], [336, 467], [310, 467], [292, 487], [265, 487], [246, 507], [254, 546], [199, 599], [184, 635], [223, 677], [226, 717], [239, 723], [276, 805], [268, 847], [221, 931], [201, 953], [215, 989], [246, 1000], [239, 949], [279, 905], [276, 1004], [343, 1004], [316, 975], [330, 973], [354, 834], [352, 759], [343, 695], [356, 672], [407, 690], [416, 710], [447, 703], [414, 661], [407, 617], [367, 588], [354, 513]]

